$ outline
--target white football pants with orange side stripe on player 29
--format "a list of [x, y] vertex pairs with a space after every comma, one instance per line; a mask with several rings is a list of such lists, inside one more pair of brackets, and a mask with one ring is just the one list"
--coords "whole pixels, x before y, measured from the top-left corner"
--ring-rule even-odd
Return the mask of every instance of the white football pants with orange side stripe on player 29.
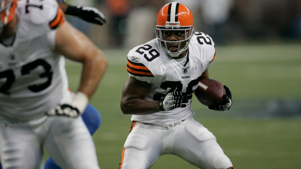
[[147, 169], [173, 154], [202, 169], [227, 169], [230, 159], [216, 137], [193, 118], [165, 127], [136, 122], [124, 144], [121, 169]]

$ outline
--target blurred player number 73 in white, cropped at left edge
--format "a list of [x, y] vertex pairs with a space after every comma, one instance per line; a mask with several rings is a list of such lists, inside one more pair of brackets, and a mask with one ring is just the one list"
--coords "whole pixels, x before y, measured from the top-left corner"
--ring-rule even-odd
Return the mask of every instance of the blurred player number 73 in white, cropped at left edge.
[[[81, 114], [106, 70], [104, 54], [54, 0], [0, 0], [0, 15], [2, 167], [38, 168], [44, 146], [62, 168], [98, 169]], [[74, 97], [63, 55], [83, 65]]]

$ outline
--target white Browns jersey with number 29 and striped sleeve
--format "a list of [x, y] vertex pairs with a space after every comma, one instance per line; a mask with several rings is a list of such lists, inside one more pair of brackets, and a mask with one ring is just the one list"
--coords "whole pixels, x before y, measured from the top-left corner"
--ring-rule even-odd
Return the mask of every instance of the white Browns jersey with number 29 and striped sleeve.
[[151, 84], [146, 100], [160, 100], [175, 85], [177, 91], [190, 96], [185, 108], [160, 111], [148, 115], [132, 115], [132, 121], [154, 125], [173, 124], [194, 115], [191, 109], [193, 91], [200, 76], [208, 69], [215, 57], [214, 42], [202, 32], [194, 32], [188, 46], [188, 63], [183, 66], [160, 50], [157, 38], [133, 48], [127, 56], [129, 77]]

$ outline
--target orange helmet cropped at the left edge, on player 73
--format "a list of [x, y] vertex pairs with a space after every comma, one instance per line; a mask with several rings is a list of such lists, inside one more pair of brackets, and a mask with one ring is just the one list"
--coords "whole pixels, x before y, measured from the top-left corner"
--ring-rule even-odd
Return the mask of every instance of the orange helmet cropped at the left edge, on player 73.
[[0, 33], [3, 30], [3, 26], [10, 23], [13, 20], [18, 0], [0, 0]]

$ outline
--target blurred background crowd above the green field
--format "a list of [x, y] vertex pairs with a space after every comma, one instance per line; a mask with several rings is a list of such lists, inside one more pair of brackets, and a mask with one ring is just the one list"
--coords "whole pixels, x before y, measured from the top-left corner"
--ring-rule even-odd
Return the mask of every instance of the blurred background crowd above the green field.
[[[97, 26], [68, 16], [101, 48], [133, 48], [155, 38], [160, 8], [173, 0], [67, 0], [98, 8], [107, 19]], [[196, 31], [218, 45], [253, 41], [300, 41], [301, 0], [178, 0], [194, 16]]]

